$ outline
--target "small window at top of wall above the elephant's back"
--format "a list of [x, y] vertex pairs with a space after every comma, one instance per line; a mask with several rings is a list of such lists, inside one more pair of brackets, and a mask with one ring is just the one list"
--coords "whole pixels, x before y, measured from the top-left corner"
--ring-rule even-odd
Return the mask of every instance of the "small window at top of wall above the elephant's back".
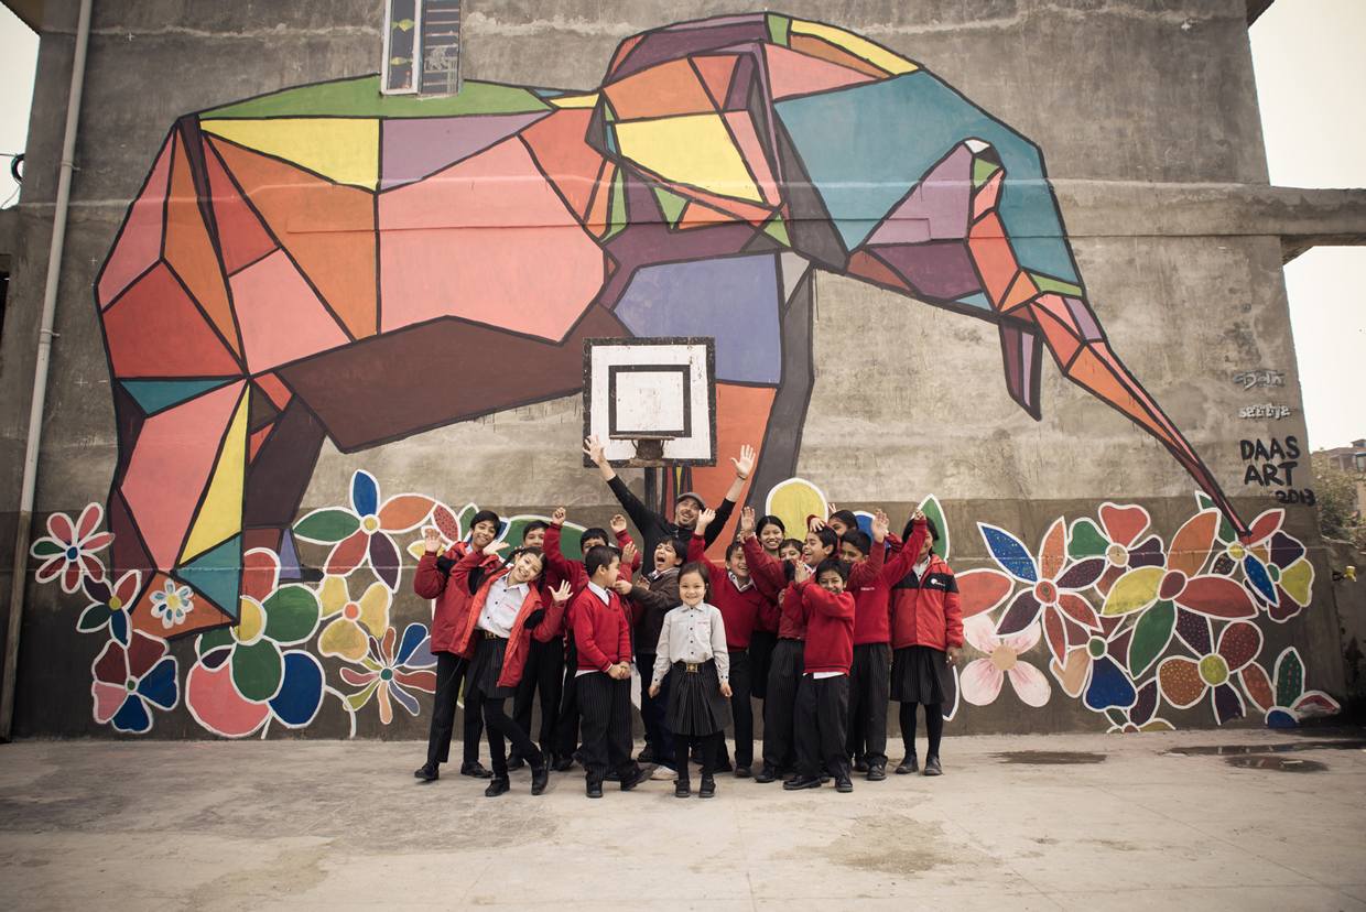
[[460, 0], [388, 0], [384, 94], [460, 91]]

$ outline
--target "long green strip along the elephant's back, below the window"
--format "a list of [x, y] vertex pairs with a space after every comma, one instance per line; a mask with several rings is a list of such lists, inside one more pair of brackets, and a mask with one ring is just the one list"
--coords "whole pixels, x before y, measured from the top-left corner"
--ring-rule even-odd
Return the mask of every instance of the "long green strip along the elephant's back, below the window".
[[380, 76], [320, 82], [284, 89], [214, 108], [199, 120], [227, 117], [459, 117], [463, 115], [550, 111], [534, 93], [516, 86], [466, 81], [458, 96], [382, 96]]

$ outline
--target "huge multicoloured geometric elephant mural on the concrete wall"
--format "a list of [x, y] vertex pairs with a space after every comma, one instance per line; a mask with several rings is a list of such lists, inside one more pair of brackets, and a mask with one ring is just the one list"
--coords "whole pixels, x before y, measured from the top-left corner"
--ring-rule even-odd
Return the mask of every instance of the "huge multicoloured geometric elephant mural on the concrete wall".
[[[918, 63], [754, 14], [628, 38], [589, 93], [384, 98], [365, 76], [182, 117], [96, 283], [119, 434], [111, 560], [141, 572], [133, 628], [260, 621], [250, 654], [317, 680], [280, 649], [302, 627], [280, 640], [243, 616], [275, 614], [249, 594], [247, 556], [276, 554], [281, 586], [302, 586], [296, 539], [329, 541], [325, 572], [365, 564], [396, 591], [392, 534], [426, 502], [381, 505], [362, 478], [350, 509], [296, 528], [322, 441], [354, 452], [571, 395], [585, 337], [716, 337], [719, 449], [765, 429], [751, 487], [769, 490], [795, 472], [811, 392], [813, 268], [994, 324], [1035, 419], [1046, 345], [1249, 531], [1113, 354], [1038, 147]], [[731, 481], [671, 478], [717, 500]], [[76, 557], [51, 554], [49, 572], [75, 579], [96, 543], [53, 538]], [[369, 661], [396, 674], [404, 649], [372, 635]], [[224, 636], [194, 683], [232, 676], [249, 644]], [[254, 694], [238, 728], [307, 717]]]

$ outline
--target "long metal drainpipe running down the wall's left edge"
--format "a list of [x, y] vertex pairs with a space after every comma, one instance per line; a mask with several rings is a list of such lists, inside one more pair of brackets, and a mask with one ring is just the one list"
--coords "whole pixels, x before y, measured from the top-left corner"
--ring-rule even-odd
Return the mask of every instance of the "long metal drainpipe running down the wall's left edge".
[[76, 52], [71, 66], [71, 93], [67, 100], [67, 135], [61, 143], [61, 175], [57, 180], [57, 208], [52, 218], [52, 248], [48, 251], [48, 285], [42, 295], [42, 326], [38, 329], [38, 365], [33, 371], [33, 407], [29, 411], [29, 446], [23, 456], [23, 493], [19, 496], [19, 528], [14, 545], [14, 587], [10, 591], [10, 636], [5, 640], [4, 684], [0, 689], [0, 740], [10, 740], [14, 724], [14, 684], [19, 664], [19, 627], [23, 621], [23, 593], [29, 571], [29, 539], [33, 534], [33, 493], [38, 482], [38, 444], [42, 440], [42, 405], [48, 399], [48, 362], [52, 359], [52, 324], [57, 313], [57, 277], [61, 248], [67, 240], [67, 205], [71, 201], [71, 171], [76, 156], [76, 122], [81, 119], [81, 89], [85, 85], [86, 46], [90, 44], [90, 5], [81, 0], [76, 23]]

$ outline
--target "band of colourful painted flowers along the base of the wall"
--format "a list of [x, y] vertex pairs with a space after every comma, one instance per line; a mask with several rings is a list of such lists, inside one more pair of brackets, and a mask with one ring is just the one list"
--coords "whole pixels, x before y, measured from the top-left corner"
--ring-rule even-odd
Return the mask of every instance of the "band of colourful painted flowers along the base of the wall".
[[[348, 717], [352, 736], [361, 713], [373, 714], [382, 726], [393, 724], [395, 707], [419, 715], [418, 695], [436, 688], [436, 658], [429, 649], [429, 603], [417, 609], [428, 623], [396, 623], [399, 598], [413, 610], [404, 568], [411, 571], [423, 553], [425, 528], [437, 528], [445, 545], [460, 541], [478, 508], [454, 511], [422, 494], [400, 494], [381, 505], [378, 487], [370, 472], [357, 471], [347, 507], [321, 508], [295, 523], [301, 541], [328, 554], [320, 564], [329, 569], [316, 586], [285, 582], [276, 553], [247, 552], [240, 623], [198, 633], [183, 643], [193, 649], [178, 650], [180, 655], [171, 654], [179, 646], [168, 642], [171, 625], [189, 623], [197, 610], [194, 595], [153, 591], [168, 606], [156, 623], [164, 631], [158, 636], [139, 629], [130, 613], [137, 572], [111, 582], [97, 554], [78, 554], [72, 572], [90, 603], [76, 628], [107, 636], [92, 666], [94, 719], [143, 735], [157, 713], [183, 699], [193, 719], [212, 735], [266, 737], [275, 726], [313, 725], [329, 698]], [[391, 578], [388, 560], [366, 564], [355, 556], [370, 553], [377, 535], [392, 538], [380, 531], [388, 520], [378, 517], [395, 504], [410, 511], [425, 505], [426, 513], [393, 520], [411, 524], [393, 542], [411, 560], [395, 560]], [[800, 528], [809, 515], [831, 512], [825, 494], [800, 478], [775, 487], [765, 507], [788, 528]], [[932, 496], [919, 508], [943, 530], [936, 552], [949, 558], [952, 530], [943, 505]], [[55, 542], [75, 547], [72, 538], [105, 541], [97, 537], [111, 532], [92, 516], [100, 516], [97, 504], [78, 522], [55, 515], [49, 523], [55, 534], [34, 542], [33, 554], [49, 553]], [[500, 539], [519, 542], [533, 519], [545, 517], [504, 519]], [[369, 523], [365, 547], [348, 545], [352, 557], [332, 560], [366, 520], [376, 522]], [[1004, 528], [978, 523], [988, 565], [964, 568], [955, 558], [967, 654], [953, 670], [945, 718], [959, 715], [964, 703], [988, 707], [1014, 698], [1023, 713], [1078, 700], [1102, 715], [1112, 732], [1175, 728], [1161, 714], [1164, 704], [1197, 711], [1195, 724], [1259, 715], [1273, 728], [1339, 711], [1333, 698], [1306, 689], [1295, 646], [1284, 647], [1274, 661], [1264, 653], [1266, 639], [1299, 617], [1313, 594], [1313, 567], [1303, 545], [1281, 528], [1283, 520], [1283, 509], [1266, 511], [1253, 523], [1251, 543], [1243, 543], [1213, 502], [1199, 496], [1194, 513], [1164, 543], [1142, 507], [1104, 504], [1096, 517], [1059, 516], [1037, 549]], [[581, 531], [566, 526], [561, 550], [570, 558], [578, 557]], [[66, 584], [67, 576], [49, 572], [45, 579]]]

